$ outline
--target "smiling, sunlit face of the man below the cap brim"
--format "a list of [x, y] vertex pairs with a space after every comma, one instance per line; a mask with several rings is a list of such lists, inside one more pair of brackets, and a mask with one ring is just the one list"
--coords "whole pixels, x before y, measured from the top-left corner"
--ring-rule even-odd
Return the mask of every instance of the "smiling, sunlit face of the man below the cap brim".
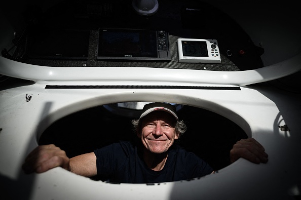
[[153, 111], [142, 118], [141, 138], [144, 147], [152, 153], [163, 153], [173, 144], [178, 135], [176, 119], [165, 111]]

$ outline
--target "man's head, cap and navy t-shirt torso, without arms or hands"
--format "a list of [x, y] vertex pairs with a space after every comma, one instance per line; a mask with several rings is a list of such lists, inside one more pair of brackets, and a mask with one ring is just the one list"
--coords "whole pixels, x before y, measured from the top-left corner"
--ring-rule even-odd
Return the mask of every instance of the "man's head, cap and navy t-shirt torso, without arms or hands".
[[205, 176], [213, 169], [174, 140], [186, 130], [178, 121], [176, 109], [165, 103], [143, 107], [132, 124], [141, 142], [119, 142], [94, 151], [97, 175], [112, 182], [156, 183]]

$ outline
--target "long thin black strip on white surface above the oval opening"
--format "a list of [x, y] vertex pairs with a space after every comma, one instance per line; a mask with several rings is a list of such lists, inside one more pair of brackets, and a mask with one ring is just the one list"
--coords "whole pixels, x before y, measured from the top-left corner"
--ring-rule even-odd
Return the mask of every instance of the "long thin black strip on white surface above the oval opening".
[[241, 90], [240, 87], [220, 86], [134, 86], [134, 85], [46, 85], [45, 89], [191, 89], [191, 90]]

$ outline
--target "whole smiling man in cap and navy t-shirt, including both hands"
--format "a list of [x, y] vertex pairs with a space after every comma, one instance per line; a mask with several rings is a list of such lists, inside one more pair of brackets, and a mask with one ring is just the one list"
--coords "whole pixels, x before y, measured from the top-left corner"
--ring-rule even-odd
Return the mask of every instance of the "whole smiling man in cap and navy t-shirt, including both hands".
[[[186, 130], [171, 104], [150, 103], [138, 120], [132, 121], [141, 142], [119, 142], [94, 152], [68, 158], [55, 145], [35, 148], [25, 159], [25, 173], [42, 173], [62, 167], [73, 173], [100, 176], [110, 182], [156, 183], [202, 177], [213, 169], [192, 152], [174, 144]], [[267, 163], [268, 154], [256, 140], [237, 142], [230, 151], [231, 162], [244, 157], [253, 163]]]

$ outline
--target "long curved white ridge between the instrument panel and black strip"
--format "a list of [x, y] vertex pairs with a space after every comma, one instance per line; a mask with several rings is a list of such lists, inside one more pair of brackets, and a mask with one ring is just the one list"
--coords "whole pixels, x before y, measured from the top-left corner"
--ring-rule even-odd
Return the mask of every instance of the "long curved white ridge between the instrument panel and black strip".
[[0, 74], [31, 81], [141, 81], [245, 86], [271, 81], [301, 69], [301, 53], [285, 61], [246, 71], [205, 71], [148, 67], [48, 67], [0, 57]]

